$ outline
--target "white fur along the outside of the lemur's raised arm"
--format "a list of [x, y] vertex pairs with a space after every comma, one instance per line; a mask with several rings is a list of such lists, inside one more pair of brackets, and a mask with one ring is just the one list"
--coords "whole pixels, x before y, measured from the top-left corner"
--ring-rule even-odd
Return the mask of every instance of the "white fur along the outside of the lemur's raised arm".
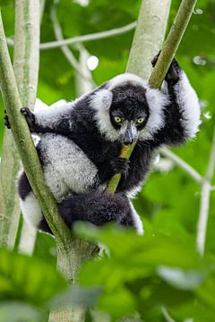
[[181, 72], [180, 80], [174, 86], [174, 90], [176, 92], [176, 102], [183, 115], [181, 123], [185, 129], [185, 135], [187, 138], [193, 138], [201, 124], [201, 107], [185, 72]]

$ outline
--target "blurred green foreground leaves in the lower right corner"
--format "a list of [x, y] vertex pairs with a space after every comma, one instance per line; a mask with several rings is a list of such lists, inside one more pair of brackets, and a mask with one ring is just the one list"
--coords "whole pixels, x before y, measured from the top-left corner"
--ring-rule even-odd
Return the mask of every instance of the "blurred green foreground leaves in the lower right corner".
[[142, 237], [81, 224], [76, 231], [106, 244], [110, 253], [82, 267], [82, 285], [103, 286], [97, 309], [115, 319], [138, 311], [144, 320], [161, 321], [166, 308], [176, 321], [197, 314], [196, 320], [211, 321], [215, 267], [200, 258], [193, 243], [157, 232]]

